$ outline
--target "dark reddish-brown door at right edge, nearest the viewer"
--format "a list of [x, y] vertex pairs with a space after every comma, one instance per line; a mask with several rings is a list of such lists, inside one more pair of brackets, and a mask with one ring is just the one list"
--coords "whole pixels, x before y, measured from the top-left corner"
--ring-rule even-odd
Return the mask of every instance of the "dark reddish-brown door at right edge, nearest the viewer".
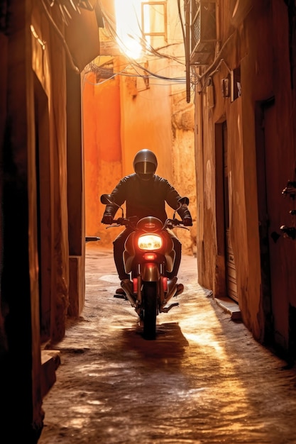
[[258, 216], [261, 253], [261, 305], [266, 343], [287, 349], [285, 338], [292, 333], [295, 318], [290, 300], [296, 294], [293, 275], [296, 268], [295, 243], [285, 239], [280, 226], [294, 223], [290, 211], [294, 199], [283, 196], [287, 180], [293, 177], [293, 157], [282, 148], [277, 131], [275, 98], [256, 104], [256, 162]]

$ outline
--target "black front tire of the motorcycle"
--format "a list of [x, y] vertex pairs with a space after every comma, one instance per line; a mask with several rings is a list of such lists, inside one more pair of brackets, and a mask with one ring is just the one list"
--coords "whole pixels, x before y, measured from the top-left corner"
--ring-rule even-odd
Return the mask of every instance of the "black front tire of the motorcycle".
[[143, 338], [156, 337], [157, 282], [143, 282]]

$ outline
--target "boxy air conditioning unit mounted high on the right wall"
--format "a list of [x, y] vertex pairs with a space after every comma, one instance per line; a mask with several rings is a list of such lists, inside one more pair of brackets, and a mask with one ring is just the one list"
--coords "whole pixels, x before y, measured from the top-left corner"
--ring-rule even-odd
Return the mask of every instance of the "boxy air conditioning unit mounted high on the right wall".
[[209, 65], [216, 43], [216, 1], [191, 1], [190, 65]]

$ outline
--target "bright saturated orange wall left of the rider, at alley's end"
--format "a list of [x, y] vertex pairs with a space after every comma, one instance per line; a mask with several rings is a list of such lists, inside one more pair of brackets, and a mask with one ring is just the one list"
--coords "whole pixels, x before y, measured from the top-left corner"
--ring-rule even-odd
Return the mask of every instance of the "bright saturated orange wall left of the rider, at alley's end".
[[102, 219], [99, 197], [121, 178], [120, 99], [117, 77], [97, 84], [84, 78], [84, 174], [86, 235], [98, 235]]

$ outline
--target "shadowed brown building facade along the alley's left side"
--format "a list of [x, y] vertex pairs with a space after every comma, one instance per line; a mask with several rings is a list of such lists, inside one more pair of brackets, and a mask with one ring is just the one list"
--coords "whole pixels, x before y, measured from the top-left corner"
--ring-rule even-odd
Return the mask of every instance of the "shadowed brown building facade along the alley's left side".
[[59, 365], [46, 344], [84, 304], [80, 72], [99, 53], [101, 16], [97, 2], [72, 4], [0, 5], [3, 443], [37, 442]]

